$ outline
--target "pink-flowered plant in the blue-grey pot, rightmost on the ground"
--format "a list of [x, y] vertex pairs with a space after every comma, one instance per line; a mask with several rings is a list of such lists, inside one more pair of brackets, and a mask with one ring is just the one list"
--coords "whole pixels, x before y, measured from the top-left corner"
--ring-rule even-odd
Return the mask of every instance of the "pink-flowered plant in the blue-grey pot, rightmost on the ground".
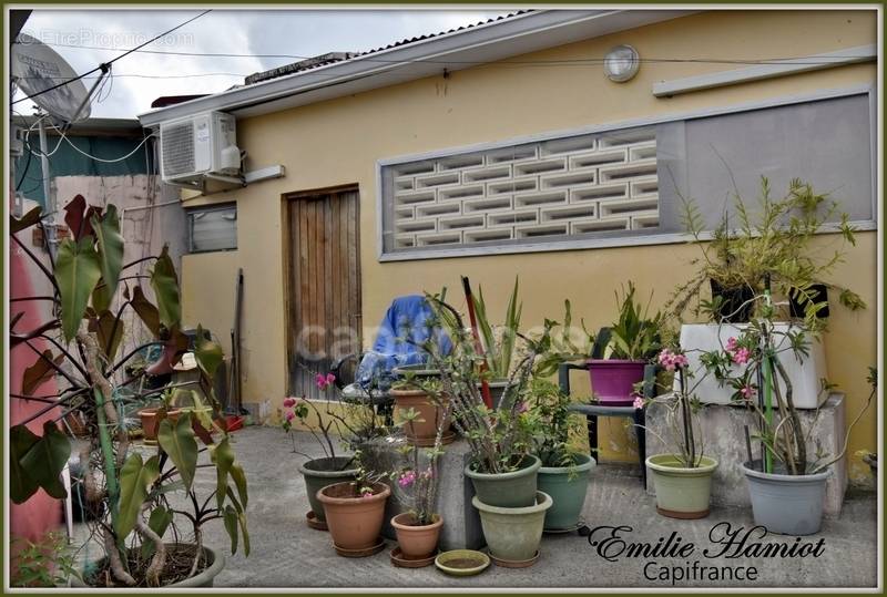
[[[829, 466], [844, 457], [847, 440], [836, 455], [826, 455], [809, 446], [813, 425], [804, 429], [797, 412], [795, 388], [778, 353], [791, 352], [803, 360], [809, 330], [782, 330], [774, 323], [776, 306], [765, 289], [756, 296], [757, 319], [727, 346], [703, 357], [706, 368], [731, 388], [733, 400], [751, 409], [758, 421], [758, 431], [746, 442], [747, 461], [743, 464], [755, 524], [774, 533], [809, 535], [822, 524], [825, 484]], [[781, 342], [779, 337], [787, 341]], [[779, 348], [783, 347], [783, 348]], [[741, 366], [737, 370], [735, 366]], [[876, 374], [868, 401], [847, 428], [847, 438], [871, 403], [876, 392]], [[825, 384], [820, 391], [830, 389]], [[752, 452], [751, 440], [761, 443], [761, 456]]]

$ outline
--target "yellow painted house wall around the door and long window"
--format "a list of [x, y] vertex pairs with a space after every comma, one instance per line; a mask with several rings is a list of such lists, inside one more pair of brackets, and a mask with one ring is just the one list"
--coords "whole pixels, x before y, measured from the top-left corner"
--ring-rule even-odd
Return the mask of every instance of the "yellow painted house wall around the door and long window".
[[[643, 58], [772, 59], [817, 54], [876, 42], [874, 11], [712, 11], [638, 28], [521, 56], [526, 61], [574, 61], [602, 56], [630, 43]], [[510, 59], [518, 60], [518, 59]], [[875, 84], [875, 64], [846, 65], [781, 79], [687, 93], [652, 95], [652, 85], [738, 68], [714, 63], [643, 63], [630, 82], [609, 82], [599, 64], [528, 66], [489, 64], [396, 86], [238, 121], [238, 145], [247, 166], [283, 164], [286, 176], [232, 193], [197, 197], [186, 205], [236, 200], [238, 249], [183, 258], [186, 323], [212, 327], [227, 343], [233, 321], [234, 279], [244, 269], [244, 401], [287, 392], [283, 229], [286, 193], [356, 183], [360, 189], [360, 251], [365, 338], [390, 300], [442, 285], [458, 288], [459, 276], [482, 284], [491, 308], [504, 306], [514, 275], [522, 280], [523, 320], [558, 319], [564, 298], [589, 329], [612, 321], [613, 289], [632, 279], [642, 296], [654, 290], [653, 307], [692, 271], [697, 249], [657, 245], [558, 253], [379, 263], [377, 260], [376, 162], [399, 155], [500, 142], [521, 135], [614, 123], [654, 115], [692, 113], [753, 101]], [[827, 236], [819, 243], [833, 243]], [[826, 338], [832, 381], [847, 392], [848, 420], [868, 395], [866, 368], [876, 362], [876, 234], [863, 233], [834, 281], [857, 290], [870, 308], [861, 313], [833, 309]], [[457, 301], [458, 302], [458, 301]], [[575, 375], [578, 392], [588, 391]], [[876, 451], [873, 408], [854, 430], [850, 454]], [[632, 460], [630, 440], [616, 420], [602, 422], [603, 457]], [[852, 475], [867, 467], [852, 459]]]

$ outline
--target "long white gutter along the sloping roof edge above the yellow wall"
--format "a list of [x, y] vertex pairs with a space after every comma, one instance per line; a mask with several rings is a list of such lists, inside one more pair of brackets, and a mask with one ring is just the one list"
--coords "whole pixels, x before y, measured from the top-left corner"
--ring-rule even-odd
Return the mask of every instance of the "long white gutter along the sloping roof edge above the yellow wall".
[[443, 69], [467, 69], [693, 12], [696, 11], [533, 11], [154, 110], [140, 114], [139, 120], [142, 126], [156, 126], [161, 122], [211, 110], [238, 116], [265, 114], [439, 74]]

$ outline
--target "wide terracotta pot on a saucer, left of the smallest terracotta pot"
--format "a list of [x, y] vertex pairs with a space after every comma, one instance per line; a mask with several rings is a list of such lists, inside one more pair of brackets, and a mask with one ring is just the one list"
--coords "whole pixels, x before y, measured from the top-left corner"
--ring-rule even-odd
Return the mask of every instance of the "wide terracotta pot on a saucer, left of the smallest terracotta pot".
[[379, 543], [385, 502], [391, 490], [384, 483], [374, 483], [373, 491], [369, 497], [360, 497], [355, 484], [345, 482], [327, 485], [317, 492], [336, 547], [359, 550]]

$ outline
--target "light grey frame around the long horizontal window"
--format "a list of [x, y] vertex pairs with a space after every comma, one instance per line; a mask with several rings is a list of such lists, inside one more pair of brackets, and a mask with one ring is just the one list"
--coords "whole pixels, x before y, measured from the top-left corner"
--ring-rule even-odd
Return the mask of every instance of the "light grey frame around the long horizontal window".
[[[451, 248], [410, 248], [406, 250], [385, 250], [384, 238], [384, 218], [385, 218], [385, 197], [383, 196], [383, 168], [387, 166], [395, 166], [408, 162], [417, 162], [422, 159], [436, 159], [441, 157], [449, 157], [455, 155], [468, 154], [473, 152], [483, 152], [491, 150], [499, 150], [512, 145], [520, 145], [523, 143], [538, 143], [555, 138], [565, 138], [571, 136], [605, 133], [611, 131], [619, 131], [623, 128], [634, 128], [639, 126], [650, 126], [670, 122], [691, 121], [696, 119], [705, 119], [711, 116], [737, 114], [742, 112], [752, 112], [756, 110], [766, 110], [769, 107], [787, 106], [795, 104], [803, 104], [808, 102], [816, 102], [820, 100], [830, 100], [839, 97], [848, 97], [853, 95], [867, 95], [869, 105], [869, 124], [871, 125], [873, 134], [869, 135], [870, 142], [870, 159], [871, 159], [871, 219], [854, 220], [849, 224], [857, 230], [876, 230], [878, 226], [878, 106], [877, 106], [877, 92], [874, 85], [856, 85], [852, 88], [823, 90], [813, 93], [793, 94], [786, 96], [772, 97], [766, 100], [758, 100], [754, 102], [745, 102], [741, 104], [732, 104], [727, 106], [710, 107], [705, 110], [696, 110], [685, 113], [669, 114], [663, 116], [633, 119], [628, 121], [619, 121], [605, 123], [600, 125], [583, 126], [580, 128], [571, 128], [567, 131], [552, 131], [541, 134], [533, 134], [528, 136], [512, 137], [504, 141], [479, 143], [473, 145], [463, 145], [459, 147], [450, 147], [443, 150], [435, 150], [432, 152], [425, 152], [418, 154], [400, 155], [396, 157], [381, 158], [376, 162], [376, 256], [378, 261], [412, 261], [419, 259], [445, 259], [453, 257], [473, 257], [485, 255], [510, 255], [521, 253], [547, 253], [547, 251], [562, 251], [562, 250], [578, 250], [578, 249], [592, 249], [592, 248], [611, 248], [611, 247], [636, 247], [645, 245], [669, 245], [677, 243], [686, 243], [691, 239], [691, 235], [686, 233], [661, 233], [661, 234], [642, 234], [642, 235], [624, 235], [611, 238], [577, 238], [565, 240], [547, 240], [544, 243], [527, 241], [512, 245], [488, 245], [481, 247], [451, 247]], [[837, 225], [824, 225], [822, 233], [838, 231]], [[703, 234], [703, 238], [711, 238], [711, 234]]]

